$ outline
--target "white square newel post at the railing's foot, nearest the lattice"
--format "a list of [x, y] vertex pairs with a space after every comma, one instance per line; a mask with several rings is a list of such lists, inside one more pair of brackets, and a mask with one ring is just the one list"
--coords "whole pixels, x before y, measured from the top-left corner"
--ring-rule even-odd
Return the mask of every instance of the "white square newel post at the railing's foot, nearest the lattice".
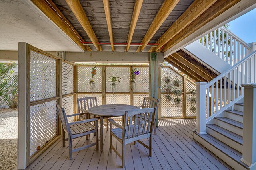
[[199, 134], [206, 134], [206, 84], [196, 82], [196, 132]]

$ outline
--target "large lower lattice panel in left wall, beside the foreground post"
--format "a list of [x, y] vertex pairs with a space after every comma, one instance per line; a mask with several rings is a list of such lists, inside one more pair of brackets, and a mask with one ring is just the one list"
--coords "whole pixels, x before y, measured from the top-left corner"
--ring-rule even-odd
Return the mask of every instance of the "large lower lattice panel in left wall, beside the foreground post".
[[30, 156], [57, 135], [56, 100], [30, 107]]

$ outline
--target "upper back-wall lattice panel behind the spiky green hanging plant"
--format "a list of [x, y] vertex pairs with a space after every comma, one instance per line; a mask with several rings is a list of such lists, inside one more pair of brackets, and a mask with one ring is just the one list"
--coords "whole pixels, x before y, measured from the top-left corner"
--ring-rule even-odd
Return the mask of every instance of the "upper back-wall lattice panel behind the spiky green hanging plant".
[[[130, 67], [106, 67], [106, 79], [111, 74], [121, 78], [120, 82], [115, 82], [115, 92], [130, 92]], [[111, 82], [107, 80], [106, 92], [112, 92]]]

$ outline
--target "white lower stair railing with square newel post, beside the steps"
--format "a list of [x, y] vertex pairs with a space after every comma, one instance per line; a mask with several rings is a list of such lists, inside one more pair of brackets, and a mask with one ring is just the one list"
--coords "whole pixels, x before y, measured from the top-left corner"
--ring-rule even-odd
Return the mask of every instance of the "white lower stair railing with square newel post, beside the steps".
[[196, 83], [198, 133], [205, 133], [205, 123], [243, 98], [241, 84], [246, 83], [256, 83], [256, 51], [207, 84]]

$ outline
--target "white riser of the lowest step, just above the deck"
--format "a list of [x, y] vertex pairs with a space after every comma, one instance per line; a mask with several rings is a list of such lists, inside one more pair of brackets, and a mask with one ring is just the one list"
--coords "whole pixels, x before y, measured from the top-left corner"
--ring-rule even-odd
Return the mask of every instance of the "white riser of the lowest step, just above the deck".
[[216, 156], [218, 156], [220, 159], [222, 159], [224, 162], [226, 162], [229, 166], [231, 166], [232, 168], [234, 168], [235, 170], [247, 170], [246, 168], [244, 168], [244, 166], [238, 164], [236, 161], [234, 161], [232, 158], [230, 158], [229, 156], [227, 156], [226, 154], [224, 154], [223, 152], [221, 152], [220, 150], [216, 149], [214, 146], [212, 146], [210, 143], [208, 143], [207, 141], [205, 141], [204, 139], [202, 139], [201, 137], [199, 137], [198, 135], [196, 135], [194, 133], [194, 139], [196, 141], [198, 141], [200, 144], [202, 144], [204, 147], [206, 147], [207, 149], [209, 149], [211, 152], [213, 152], [214, 154], [216, 154]]

